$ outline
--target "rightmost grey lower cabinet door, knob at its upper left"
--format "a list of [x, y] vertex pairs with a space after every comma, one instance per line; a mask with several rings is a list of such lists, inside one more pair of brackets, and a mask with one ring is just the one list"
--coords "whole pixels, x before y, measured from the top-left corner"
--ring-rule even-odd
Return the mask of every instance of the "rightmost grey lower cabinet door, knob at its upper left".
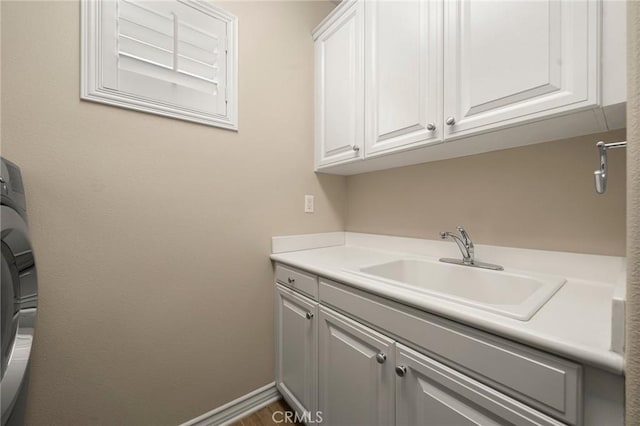
[[396, 364], [396, 425], [563, 424], [399, 343]]

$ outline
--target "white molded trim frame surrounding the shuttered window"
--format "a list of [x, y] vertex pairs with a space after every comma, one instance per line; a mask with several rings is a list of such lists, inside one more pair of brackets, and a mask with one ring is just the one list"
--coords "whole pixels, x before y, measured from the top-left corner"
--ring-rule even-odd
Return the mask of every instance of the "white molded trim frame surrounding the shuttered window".
[[238, 130], [238, 18], [202, 0], [177, 0], [213, 15], [228, 25], [227, 114], [211, 115], [141, 99], [102, 85], [102, 43], [100, 5], [102, 1], [80, 2], [80, 98], [123, 108], [159, 114], [209, 126]]

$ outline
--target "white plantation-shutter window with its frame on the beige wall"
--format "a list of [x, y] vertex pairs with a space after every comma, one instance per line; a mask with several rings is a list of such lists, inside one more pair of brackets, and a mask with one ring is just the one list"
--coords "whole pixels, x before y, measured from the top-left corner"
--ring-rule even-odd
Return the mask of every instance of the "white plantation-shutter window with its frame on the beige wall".
[[[96, 16], [84, 13], [91, 5]], [[100, 27], [97, 92], [124, 95], [130, 108], [152, 104], [145, 110], [237, 128], [235, 17], [192, 0], [97, 0], [84, 8], [83, 18]]]

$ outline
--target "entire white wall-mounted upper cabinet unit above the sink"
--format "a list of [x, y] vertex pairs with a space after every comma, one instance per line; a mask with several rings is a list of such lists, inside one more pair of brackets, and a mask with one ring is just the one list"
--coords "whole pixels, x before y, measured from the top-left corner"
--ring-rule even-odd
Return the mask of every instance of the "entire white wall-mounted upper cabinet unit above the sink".
[[355, 174], [624, 127], [625, 7], [344, 0], [314, 32], [316, 170]]

